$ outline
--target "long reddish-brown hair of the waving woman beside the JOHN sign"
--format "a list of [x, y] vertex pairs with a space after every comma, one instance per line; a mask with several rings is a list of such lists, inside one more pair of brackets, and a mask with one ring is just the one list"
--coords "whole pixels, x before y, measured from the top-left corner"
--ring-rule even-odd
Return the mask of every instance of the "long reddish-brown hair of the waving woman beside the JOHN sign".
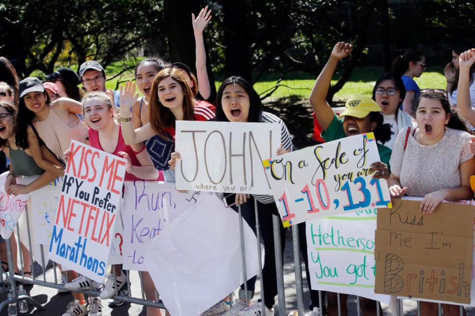
[[193, 117], [193, 93], [190, 87], [186, 83], [183, 76], [180, 74], [180, 70], [176, 68], [165, 68], [157, 73], [157, 76], [152, 83], [152, 90], [150, 92], [149, 101], [149, 116], [150, 124], [158, 134], [164, 137], [165, 129], [169, 127], [175, 127], [175, 116], [172, 111], [163, 106], [158, 99], [158, 84], [161, 80], [170, 77], [180, 84], [183, 90], [183, 120], [194, 121]]

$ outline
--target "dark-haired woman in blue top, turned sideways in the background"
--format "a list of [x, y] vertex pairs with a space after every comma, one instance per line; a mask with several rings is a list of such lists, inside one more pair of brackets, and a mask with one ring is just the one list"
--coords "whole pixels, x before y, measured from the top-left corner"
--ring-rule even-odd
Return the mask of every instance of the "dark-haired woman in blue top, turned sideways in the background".
[[414, 77], [420, 77], [426, 69], [425, 56], [417, 49], [407, 49], [402, 55], [393, 61], [393, 73], [400, 76], [406, 87], [406, 97], [402, 100], [402, 110], [414, 116], [412, 101], [419, 95], [421, 90], [414, 81]]

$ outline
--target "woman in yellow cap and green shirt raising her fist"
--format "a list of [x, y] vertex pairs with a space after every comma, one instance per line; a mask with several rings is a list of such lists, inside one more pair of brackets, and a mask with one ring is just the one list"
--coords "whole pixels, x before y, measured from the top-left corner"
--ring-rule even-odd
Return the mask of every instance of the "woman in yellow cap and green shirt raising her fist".
[[[326, 142], [331, 142], [347, 136], [373, 132], [378, 143], [384, 144], [391, 139], [391, 125], [384, 124], [383, 115], [378, 104], [370, 97], [351, 97], [346, 101], [345, 110], [337, 117], [326, 97], [330, 81], [338, 62], [353, 49], [348, 43], [338, 42], [332, 50], [325, 67], [317, 78], [315, 86], [310, 94], [310, 103], [322, 128], [321, 137]], [[389, 179], [389, 159], [391, 149], [377, 144], [381, 162], [371, 165], [371, 171], [375, 171], [373, 178]], [[340, 294], [343, 302], [346, 302], [347, 294]], [[360, 298], [360, 306], [364, 315], [375, 315], [375, 302], [370, 299]], [[327, 315], [338, 315], [337, 293], [327, 292]], [[346, 304], [342, 304], [341, 315], [347, 315]]]

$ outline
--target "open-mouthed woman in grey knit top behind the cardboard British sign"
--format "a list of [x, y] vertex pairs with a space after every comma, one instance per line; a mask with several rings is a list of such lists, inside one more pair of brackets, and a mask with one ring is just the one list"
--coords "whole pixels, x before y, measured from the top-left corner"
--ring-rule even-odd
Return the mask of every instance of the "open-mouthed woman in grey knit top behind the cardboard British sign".
[[[445, 90], [423, 89], [415, 104], [418, 128], [400, 131], [394, 144], [391, 197], [422, 197], [423, 214], [434, 212], [444, 200], [471, 200], [475, 160], [465, 122], [450, 107]], [[421, 301], [420, 306], [421, 315], [437, 314], [437, 303]], [[442, 304], [442, 309], [444, 316], [459, 315], [459, 305]]]

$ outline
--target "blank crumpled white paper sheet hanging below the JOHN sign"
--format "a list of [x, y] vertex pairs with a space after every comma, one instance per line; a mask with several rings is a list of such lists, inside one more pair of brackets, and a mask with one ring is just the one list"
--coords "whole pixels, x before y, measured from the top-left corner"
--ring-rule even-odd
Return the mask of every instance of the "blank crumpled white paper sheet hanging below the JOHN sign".
[[[250, 279], [259, 271], [257, 239], [243, 224]], [[145, 265], [170, 315], [201, 315], [245, 281], [237, 212], [215, 194], [199, 199], [150, 243]]]

